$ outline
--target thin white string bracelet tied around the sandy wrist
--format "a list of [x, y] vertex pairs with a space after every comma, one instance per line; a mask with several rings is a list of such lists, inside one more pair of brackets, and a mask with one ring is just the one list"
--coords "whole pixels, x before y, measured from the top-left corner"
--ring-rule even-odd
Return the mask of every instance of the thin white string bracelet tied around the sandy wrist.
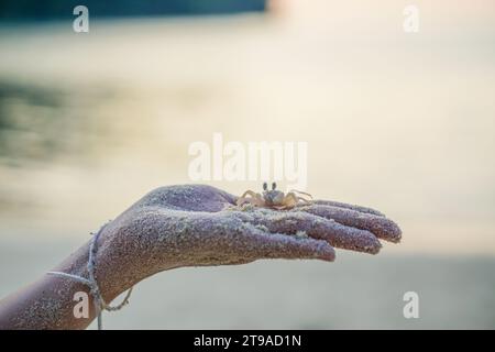
[[89, 258], [88, 258], [88, 265], [87, 265], [88, 276], [89, 276], [88, 278], [78, 276], [78, 275], [62, 273], [62, 272], [47, 272], [47, 274], [50, 274], [50, 275], [70, 278], [75, 282], [78, 282], [78, 283], [84, 284], [89, 287], [89, 289], [90, 289], [89, 293], [92, 295], [92, 298], [94, 298], [95, 311], [98, 315], [98, 330], [103, 329], [102, 311], [103, 310], [117, 311], [117, 310], [122, 309], [125, 305], [129, 304], [129, 298], [131, 297], [131, 293], [132, 293], [132, 288], [133, 288], [133, 287], [131, 287], [128, 290], [123, 300], [117, 306], [108, 305], [105, 301], [103, 297], [101, 296], [100, 288], [98, 287], [98, 283], [95, 278], [95, 267], [96, 267], [95, 261], [96, 261], [98, 238], [100, 237], [100, 233], [103, 231], [103, 229], [107, 227], [107, 224], [108, 223], [103, 224], [100, 228], [100, 230], [98, 230], [98, 232], [96, 234], [94, 234], [94, 237], [91, 239], [91, 243], [89, 244]]

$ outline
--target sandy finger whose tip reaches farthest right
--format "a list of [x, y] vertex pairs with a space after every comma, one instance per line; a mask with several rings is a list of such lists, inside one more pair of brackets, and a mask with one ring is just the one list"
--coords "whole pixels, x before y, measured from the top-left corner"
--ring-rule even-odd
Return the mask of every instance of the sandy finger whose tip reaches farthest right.
[[385, 217], [324, 205], [301, 207], [299, 210], [323, 217], [326, 219], [333, 219], [334, 221], [348, 227], [367, 230], [374, 233], [378, 239], [394, 243], [400, 241], [402, 231], [399, 227], [394, 221]]

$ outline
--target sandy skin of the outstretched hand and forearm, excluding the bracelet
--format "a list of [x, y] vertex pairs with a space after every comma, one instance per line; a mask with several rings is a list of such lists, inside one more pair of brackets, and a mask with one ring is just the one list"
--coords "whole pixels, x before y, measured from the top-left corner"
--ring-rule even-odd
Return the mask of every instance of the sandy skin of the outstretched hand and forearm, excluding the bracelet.
[[[315, 200], [289, 210], [235, 207], [237, 196], [206, 185], [157, 188], [101, 231], [95, 276], [105, 301], [156, 273], [186, 266], [246, 264], [263, 258], [332, 262], [334, 249], [376, 254], [378, 239], [399, 242], [400, 229], [381, 212]], [[53, 271], [88, 277], [90, 243]], [[0, 329], [85, 329], [73, 300], [89, 288], [70, 278], [43, 275], [0, 300]]]

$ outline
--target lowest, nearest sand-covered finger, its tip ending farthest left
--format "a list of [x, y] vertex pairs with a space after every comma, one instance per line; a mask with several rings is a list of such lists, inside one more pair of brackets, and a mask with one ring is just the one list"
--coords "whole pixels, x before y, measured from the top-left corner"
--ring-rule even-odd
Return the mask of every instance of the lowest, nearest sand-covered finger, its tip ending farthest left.
[[326, 241], [299, 239], [284, 233], [271, 233], [251, 223], [244, 223], [250, 253], [256, 258], [318, 258], [333, 262], [336, 251]]

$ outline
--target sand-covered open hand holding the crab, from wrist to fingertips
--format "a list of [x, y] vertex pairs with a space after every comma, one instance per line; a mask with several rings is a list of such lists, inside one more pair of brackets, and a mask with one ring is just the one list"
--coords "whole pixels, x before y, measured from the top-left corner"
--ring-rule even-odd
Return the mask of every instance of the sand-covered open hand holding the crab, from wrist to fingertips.
[[397, 224], [370, 208], [324, 200], [289, 210], [242, 208], [235, 207], [237, 198], [206, 185], [151, 191], [105, 228], [97, 270], [117, 272], [110, 282], [120, 282], [123, 290], [175, 267], [261, 258], [333, 261], [333, 248], [376, 254], [378, 239], [400, 240]]

